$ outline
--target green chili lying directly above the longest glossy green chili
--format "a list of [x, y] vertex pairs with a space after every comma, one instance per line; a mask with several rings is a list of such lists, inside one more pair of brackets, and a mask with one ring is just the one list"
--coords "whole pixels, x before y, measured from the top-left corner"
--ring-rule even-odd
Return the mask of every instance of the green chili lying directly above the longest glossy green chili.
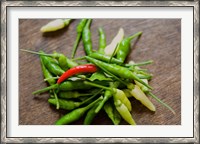
[[[104, 61], [104, 62], [107, 62], [107, 63], [115, 63], [115, 64], [123, 64], [123, 62], [121, 60], [118, 60], [116, 58], [112, 58], [110, 56], [107, 56], [107, 55], [103, 55], [101, 53], [98, 53], [98, 52], [93, 52], [89, 55], [90, 57], [92, 58], [95, 58], [95, 59], [98, 59], [98, 60], [101, 60], [101, 61]], [[110, 60], [111, 59], [111, 60]]]

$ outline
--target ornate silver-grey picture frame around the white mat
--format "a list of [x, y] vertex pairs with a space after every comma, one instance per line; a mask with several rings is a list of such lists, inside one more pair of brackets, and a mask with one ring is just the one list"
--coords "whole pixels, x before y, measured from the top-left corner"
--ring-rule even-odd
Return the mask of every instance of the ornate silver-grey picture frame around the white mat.
[[[7, 137], [7, 71], [9, 60], [8, 55], [8, 19], [7, 10], [10, 7], [193, 7], [193, 80], [194, 80], [194, 98], [193, 98], [193, 137], [70, 137], [70, 138], [52, 138], [52, 137]], [[197, 1], [3, 1], [1, 2], [1, 142], [2, 143], [198, 143], [199, 142], [199, 2]]]

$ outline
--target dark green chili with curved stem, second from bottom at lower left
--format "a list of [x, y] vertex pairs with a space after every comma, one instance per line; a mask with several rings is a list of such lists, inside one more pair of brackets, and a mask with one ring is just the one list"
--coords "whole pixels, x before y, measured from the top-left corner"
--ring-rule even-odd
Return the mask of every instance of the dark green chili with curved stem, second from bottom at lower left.
[[[97, 93], [99, 94], [99, 92]], [[77, 107], [80, 107], [83, 104], [88, 103], [89, 101], [91, 101], [97, 94], [93, 95], [92, 97], [89, 97], [88, 99], [82, 101], [82, 102], [77, 102], [77, 101], [73, 101], [73, 100], [66, 100], [66, 99], [58, 99], [58, 102], [60, 104], [60, 108], [65, 109], [65, 110], [73, 110]], [[57, 101], [56, 99], [48, 99], [48, 102], [50, 104], [56, 105]]]

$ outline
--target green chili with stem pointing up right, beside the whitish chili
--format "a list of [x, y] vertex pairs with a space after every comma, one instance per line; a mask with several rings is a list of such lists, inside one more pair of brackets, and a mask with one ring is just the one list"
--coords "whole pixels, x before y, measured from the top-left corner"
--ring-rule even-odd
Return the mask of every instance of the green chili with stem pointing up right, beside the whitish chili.
[[131, 45], [131, 40], [134, 39], [135, 37], [138, 37], [142, 34], [142, 32], [138, 32], [130, 37], [127, 37], [123, 39], [118, 47], [117, 51], [117, 59], [121, 60], [122, 62], [125, 61], [127, 55], [130, 53], [130, 45]]

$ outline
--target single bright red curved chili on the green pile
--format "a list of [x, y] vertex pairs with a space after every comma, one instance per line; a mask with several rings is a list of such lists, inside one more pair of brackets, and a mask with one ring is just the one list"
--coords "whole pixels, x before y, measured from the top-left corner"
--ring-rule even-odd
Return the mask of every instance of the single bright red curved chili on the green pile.
[[79, 66], [76, 66], [76, 67], [73, 67], [73, 68], [67, 70], [64, 74], [62, 74], [60, 76], [60, 78], [58, 79], [57, 83], [60, 84], [67, 78], [69, 78], [75, 74], [78, 74], [78, 73], [82, 73], [82, 72], [94, 73], [96, 71], [97, 71], [97, 67], [93, 64], [79, 65]]

